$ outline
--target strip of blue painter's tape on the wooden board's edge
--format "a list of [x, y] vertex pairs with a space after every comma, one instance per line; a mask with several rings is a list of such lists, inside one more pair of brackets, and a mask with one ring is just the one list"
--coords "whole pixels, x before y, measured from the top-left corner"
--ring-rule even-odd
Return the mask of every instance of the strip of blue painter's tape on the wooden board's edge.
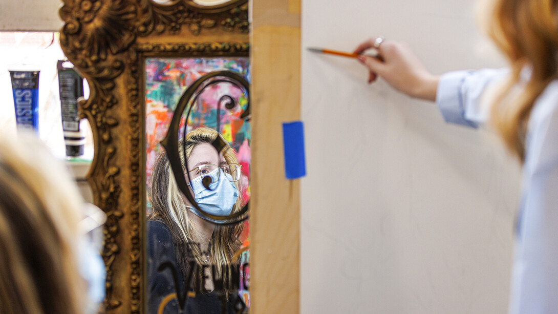
[[304, 125], [302, 121], [283, 123], [285, 149], [285, 177], [297, 179], [306, 175], [304, 154]]

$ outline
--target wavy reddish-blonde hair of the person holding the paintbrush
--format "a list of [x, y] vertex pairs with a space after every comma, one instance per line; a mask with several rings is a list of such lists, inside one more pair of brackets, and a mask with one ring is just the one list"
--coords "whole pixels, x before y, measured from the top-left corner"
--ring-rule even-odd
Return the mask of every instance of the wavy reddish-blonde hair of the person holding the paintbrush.
[[[488, 34], [511, 64], [511, 74], [493, 103], [491, 120], [508, 149], [522, 162], [533, 104], [558, 74], [557, 2], [495, 0], [485, 21]], [[523, 69], [531, 70], [527, 82], [521, 82]], [[520, 91], [512, 96], [514, 88]]]

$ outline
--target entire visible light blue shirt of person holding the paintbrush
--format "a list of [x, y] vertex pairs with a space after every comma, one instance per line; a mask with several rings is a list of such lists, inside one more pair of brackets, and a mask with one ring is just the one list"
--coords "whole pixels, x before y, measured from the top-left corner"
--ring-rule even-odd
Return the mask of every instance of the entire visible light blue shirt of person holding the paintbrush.
[[[477, 127], [487, 87], [507, 70], [442, 75], [436, 103], [447, 122]], [[537, 98], [527, 127], [510, 313], [558, 313], [558, 81]]]

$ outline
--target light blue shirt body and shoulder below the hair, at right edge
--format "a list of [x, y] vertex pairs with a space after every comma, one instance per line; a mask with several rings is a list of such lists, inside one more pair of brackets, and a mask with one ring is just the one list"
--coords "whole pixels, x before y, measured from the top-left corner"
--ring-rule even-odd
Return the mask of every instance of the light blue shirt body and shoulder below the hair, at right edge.
[[558, 82], [531, 112], [523, 165], [511, 311], [558, 313]]

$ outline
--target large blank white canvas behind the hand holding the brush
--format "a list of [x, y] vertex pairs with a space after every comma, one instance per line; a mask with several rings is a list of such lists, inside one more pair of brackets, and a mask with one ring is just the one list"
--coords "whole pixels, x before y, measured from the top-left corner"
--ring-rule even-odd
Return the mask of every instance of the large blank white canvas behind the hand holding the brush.
[[302, 1], [301, 313], [506, 313], [519, 166], [487, 130], [380, 79], [352, 51], [405, 41], [436, 74], [505, 65], [462, 0]]

